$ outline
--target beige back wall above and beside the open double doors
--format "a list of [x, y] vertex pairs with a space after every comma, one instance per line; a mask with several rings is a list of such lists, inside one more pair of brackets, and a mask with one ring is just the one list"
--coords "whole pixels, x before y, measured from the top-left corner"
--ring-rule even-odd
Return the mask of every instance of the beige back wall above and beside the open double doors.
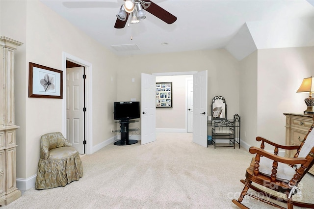
[[140, 101], [141, 73], [204, 70], [208, 70], [209, 107], [212, 98], [221, 95], [228, 104], [228, 117], [233, 117], [239, 111], [239, 62], [224, 49], [123, 57], [117, 76], [118, 100]]

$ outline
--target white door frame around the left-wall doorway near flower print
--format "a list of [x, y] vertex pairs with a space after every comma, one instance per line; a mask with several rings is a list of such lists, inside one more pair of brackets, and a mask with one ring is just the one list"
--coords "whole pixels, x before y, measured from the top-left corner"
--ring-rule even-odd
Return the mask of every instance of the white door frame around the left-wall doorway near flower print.
[[86, 106], [86, 113], [85, 113], [85, 136], [86, 136], [86, 145], [85, 145], [85, 154], [90, 155], [93, 153], [93, 109], [92, 109], [92, 69], [93, 65], [83, 59], [80, 59], [72, 54], [62, 52], [62, 71], [63, 71], [63, 99], [62, 99], [62, 133], [66, 136], [66, 125], [67, 125], [67, 113], [66, 113], [66, 70], [67, 64], [66, 62], [71, 61], [78, 65], [85, 67], [85, 106]]

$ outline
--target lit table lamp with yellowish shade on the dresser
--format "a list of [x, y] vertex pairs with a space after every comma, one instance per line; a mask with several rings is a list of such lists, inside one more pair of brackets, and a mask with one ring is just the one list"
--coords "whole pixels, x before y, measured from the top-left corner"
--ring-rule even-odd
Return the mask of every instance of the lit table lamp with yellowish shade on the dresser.
[[312, 98], [312, 92], [314, 92], [314, 82], [312, 76], [310, 78], [304, 78], [300, 88], [296, 92], [309, 92], [309, 98], [304, 100], [308, 108], [304, 111], [304, 114], [314, 114], [314, 98]]

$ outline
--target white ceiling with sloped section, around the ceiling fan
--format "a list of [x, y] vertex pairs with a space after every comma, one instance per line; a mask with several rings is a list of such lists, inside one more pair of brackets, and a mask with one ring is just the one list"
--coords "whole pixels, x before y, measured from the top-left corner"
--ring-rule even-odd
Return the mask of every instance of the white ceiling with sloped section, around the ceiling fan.
[[[225, 48], [242, 59], [255, 49], [314, 46], [314, 0], [152, 0], [178, 20], [146, 12], [122, 29], [114, 24], [123, 0], [41, 1], [117, 55]], [[139, 49], [112, 47], [130, 44]]]

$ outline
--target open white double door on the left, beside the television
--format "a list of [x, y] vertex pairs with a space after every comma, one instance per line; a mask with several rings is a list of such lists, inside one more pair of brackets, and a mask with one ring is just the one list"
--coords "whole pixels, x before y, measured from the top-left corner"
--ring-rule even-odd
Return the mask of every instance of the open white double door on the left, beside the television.
[[156, 141], [156, 76], [141, 74], [141, 144]]

